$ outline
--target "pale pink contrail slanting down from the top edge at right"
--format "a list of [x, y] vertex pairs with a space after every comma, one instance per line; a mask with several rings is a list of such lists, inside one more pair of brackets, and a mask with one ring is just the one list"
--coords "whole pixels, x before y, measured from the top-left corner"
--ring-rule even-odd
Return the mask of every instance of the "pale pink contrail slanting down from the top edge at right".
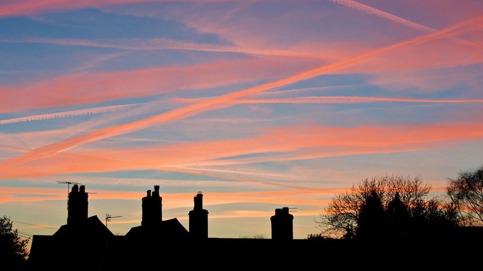
[[421, 30], [421, 31], [424, 31], [424, 32], [435, 32], [435, 31], [437, 31], [436, 29], [433, 29], [433, 28], [424, 26], [422, 24], [418, 24], [418, 23], [406, 20], [406, 19], [401, 18], [399, 16], [387, 13], [385, 11], [376, 9], [374, 7], [371, 7], [371, 6], [368, 6], [368, 5], [365, 5], [365, 4], [361, 4], [361, 3], [353, 1], [353, 0], [328, 0], [328, 1], [332, 1], [332, 2], [335, 2], [335, 3], [341, 4], [341, 5], [345, 5], [345, 6], [348, 6], [350, 8], [354, 8], [354, 9], [357, 9], [357, 10], [365, 12], [365, 13], [374, 14], [374, 15], [379, 16], [381, 18], [388, 19], [388, 20], [394, 21], [396, 23], [399, 23], [399, 24], [402, 24], [402, 25], [405, 25], [405, 26], [409, 26], [411, 28]]

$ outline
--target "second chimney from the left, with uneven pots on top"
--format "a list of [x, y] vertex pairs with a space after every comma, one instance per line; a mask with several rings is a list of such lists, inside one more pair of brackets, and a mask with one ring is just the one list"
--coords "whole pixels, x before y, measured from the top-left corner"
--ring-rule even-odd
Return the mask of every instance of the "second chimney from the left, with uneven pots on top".
[[159, 196], [159, 186], [154, 186], [154, 191], [146, 192], [142, 199], [143, 220], [141, 226], [153, 226], [162, 221], [162, 197]]

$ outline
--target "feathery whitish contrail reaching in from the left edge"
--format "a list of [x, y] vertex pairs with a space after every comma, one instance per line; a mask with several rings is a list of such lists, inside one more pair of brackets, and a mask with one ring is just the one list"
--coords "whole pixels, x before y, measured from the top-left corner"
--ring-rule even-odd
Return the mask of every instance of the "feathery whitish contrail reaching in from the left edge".
[[[153, 102], [149, 102], [149, 103], [153, 103]], [[145, 104], [149, 104], [149, 103], [104, 106], [104, 107], [86, 108], [86, 109], [80, 109], [80, 110], [63, 111], [63, 112], [56, 112], [56, 113], [49, 113], [49, 114], [42, 114], [42, 115], [23, 116], [23, 117], [17, 117], [17, 118], [2, 119], [2, 120], [0, 120], [0, 125], [1, 124], [8, 124], [8, 123], [24, 122], [24, 121], [33, 121], [33, 120], [46, 120], [46, 119], [59, 118], [59, 117], [103, 114], [103, 113], [125, 110], [125, 109], [128, 109], [130, 107], [145, 105]]]

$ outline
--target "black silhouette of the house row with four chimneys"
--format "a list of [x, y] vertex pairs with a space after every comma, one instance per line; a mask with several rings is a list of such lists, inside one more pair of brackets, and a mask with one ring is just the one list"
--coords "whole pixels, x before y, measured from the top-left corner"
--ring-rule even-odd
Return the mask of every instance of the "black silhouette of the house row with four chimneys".
[[193, 201], [188, 232], [176, 218], [162, 220], [162, 197], [159, 186], [154, 186], [142, 198], [141, 226], [119, 236], [97, 216], [88, 217], [86, 188], [74, 185], [69, 193], [67, 224], [53, 235], [34, 235], [29, 263], [50, 270], [125, 270], [139, 265], [154, 268], [159, 264], [156, 259], [185, 261], [189, 255], [191, 260], [202, 260], [217, 255], [218, 259], [230, 261], [247, 253], [277, 251], [297, 241], [292, 240], [293, 216], [287, 207], [277, 209], [271, 218], [276, 232], [273, 239], [209, 238], [203, 194], [198, 192]]

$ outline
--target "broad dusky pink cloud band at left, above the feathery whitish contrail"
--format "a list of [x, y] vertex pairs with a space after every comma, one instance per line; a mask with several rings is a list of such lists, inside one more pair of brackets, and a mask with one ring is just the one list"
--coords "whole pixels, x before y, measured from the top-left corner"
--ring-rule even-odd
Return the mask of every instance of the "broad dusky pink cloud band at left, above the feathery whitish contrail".
[[[290, 65], [287, 65], [290, 63]], [[193, 66], [74, 74], [18, 88], [0, 87], [0, 112], [98, 103], [278, 78], [314, 66], [292, 57], [250, 58]], [[23, 96], [22, 100], [18, 97]]]

